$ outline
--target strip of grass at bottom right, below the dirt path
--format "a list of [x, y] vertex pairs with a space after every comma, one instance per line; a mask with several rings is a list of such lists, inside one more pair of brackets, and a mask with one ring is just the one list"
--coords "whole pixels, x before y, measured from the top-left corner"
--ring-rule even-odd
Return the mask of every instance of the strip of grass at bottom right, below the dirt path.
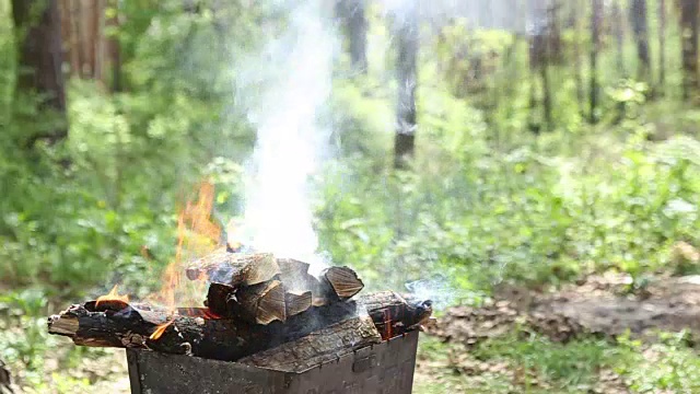
[[467, 349], [422, 336], [417, 394], [698, 393], [700, 358], [682, 334], [655, 344], [580, 338], [552, 343], [518, 333]]

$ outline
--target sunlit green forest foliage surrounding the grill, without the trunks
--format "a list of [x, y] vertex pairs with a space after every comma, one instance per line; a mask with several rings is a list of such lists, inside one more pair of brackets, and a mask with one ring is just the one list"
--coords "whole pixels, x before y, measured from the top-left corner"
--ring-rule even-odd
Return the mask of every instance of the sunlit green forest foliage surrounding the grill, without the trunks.
[[[285, 15], [249, 1], [192, 3], [197, 12], [178, 0], [120, 1], [126, 18], [108, 34], [121, 45], [122, 91], [71, 80], [68, 139], [35, 149], [22, 142], [56, 120], [37, 97], [14, 92], [13, 32], [0, 25], [0, 357], [26, 371], [23, 382], [37, 391], [89, 391], [93, 383], [48, 375], [43, 360], [58, 339], [46, 334], [46, 314], [115, 282], [136, 297], [156, 288], [174, 256], [178, 204], [202, 177], [217, 185], [220, 221], [242, 201], [254, 138], [245, 111], [256, 97], [255, 89], [238, 94], [237, 66]], [[700, 111], [675, 100], [676, 57], [668, 57], [666, 85], [656, 86], [629, 78], [632, 43], [625, 43], [626, 72], [606, 47], [596, 127], [584, 123], [587, 103], [579, 101], [573, 65], [550, 65], [552, 124], [534, 135], [528, 127], [544, 115], [530, 107], [530, 89], [536, 102], [544, 92], [529, 70], [528, 43], [448, 25], [421, 48], [417, 158], [397, 172], [394, 59], [384, 53], [392, 37], [378, 4], [370, 10], [370, 70], [334, 81], [339, 154], [315, 179], [322, 248], [359, 269], [368, 290], [404, 290], [422, 279], [442, 304], [476, 303], [502, 281], [544, 287], [612, 267], [630, 273], [638, 289], [658, 270], [697, 271], [673, 259], [679, 241], [700, 246]], [[10, 20], [8, 1], [0, 1], [0, 18]], [[574, 43], [585, 54], [590, 42], [581, 35], [564, 30], [565, 56]], [[668, 54], [679, 53], [676, 40], [667, 43]], [[654, 74], [656, 49], [652, 40]], [[347, 73], [339, 67], [338, 77]], [[640, 392], [697, 391], [689, 372], [696, 357], [674, 340], [652, 347], [664, 368], [644, 362], [648, 350], [631, 340], [561, 345], [512, 335], [480, 345], [475, 357], [523, 366], [562, 391], [590, 384], [600, 367], [615, 367]], [[422, 351], [447, 358], [436, 343]], [[74, 349], [59, 361], [75, 367], [93, 356], [102, 355]], [[462, 384], [444, 378], [425, 392]], [[510, 390], [501, 378], [487, 386]]]

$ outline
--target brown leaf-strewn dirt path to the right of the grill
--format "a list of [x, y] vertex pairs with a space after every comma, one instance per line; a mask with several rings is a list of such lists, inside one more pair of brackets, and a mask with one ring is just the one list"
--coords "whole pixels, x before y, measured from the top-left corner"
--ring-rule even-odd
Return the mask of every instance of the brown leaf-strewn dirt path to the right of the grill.
[[629, 291], [630, 279], [607, 274], [552, 293], [503, 287], [495, 299], [480, 308], [447, 310], [430, 327], [431, 335], [474, 344], [498, 337], [524, 324], [552, 340], [579, 334], [634, 336], [656, 331], [700, 333], [700, 276], [658, 278]]

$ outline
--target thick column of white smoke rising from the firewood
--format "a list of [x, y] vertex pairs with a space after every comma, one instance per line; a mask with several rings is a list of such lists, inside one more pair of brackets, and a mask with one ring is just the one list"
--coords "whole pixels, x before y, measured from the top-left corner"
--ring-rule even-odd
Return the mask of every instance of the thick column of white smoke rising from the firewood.
[[[317, 254], [312, 225], [310, 176], [327, 154], [330, 128], [319, 121], [332, 83], [335, 34], [324, 21], [324, 0], [278, 1], [289, 20], [259, 54], [243, 59], [240, 101], [257, 140], [246, 167], [243, 223], [233, 236], [246, 246], [312, 264]], [[232, 235], [232, 234], [230, 234]]]

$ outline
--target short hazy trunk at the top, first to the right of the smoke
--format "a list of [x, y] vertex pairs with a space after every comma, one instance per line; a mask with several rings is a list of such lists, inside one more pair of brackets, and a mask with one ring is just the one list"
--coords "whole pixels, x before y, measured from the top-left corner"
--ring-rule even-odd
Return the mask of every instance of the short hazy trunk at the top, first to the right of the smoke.
[[366, 73], [368, 20], [365, 16], [365, 0], [339, 0], [337, 14], [348, 37], [352, 69]]

